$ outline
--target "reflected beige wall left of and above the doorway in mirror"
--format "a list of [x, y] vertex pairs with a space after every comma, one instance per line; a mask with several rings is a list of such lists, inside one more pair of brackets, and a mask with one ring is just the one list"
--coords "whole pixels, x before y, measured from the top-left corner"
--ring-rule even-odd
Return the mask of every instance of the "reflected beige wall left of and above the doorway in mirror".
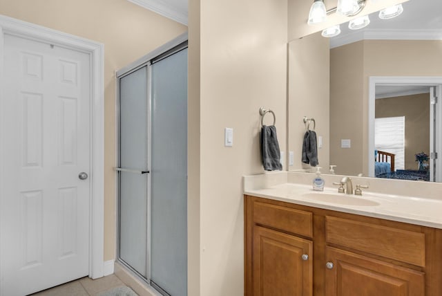
[[[442, 76], [441, 50], [440, 40], [365, 40], [331, 50], [330, 160], [340, 167], [354, 164], [352, 171], [343, 174], [368, 172], [368, 155], [372, 153], [367, 140], [369, 77]], [[333, 133], [338, 131], [356, 139], [352, 140], [351, 154], [333, 145]], [[361, 145], [353, 146], [354, 142]]]

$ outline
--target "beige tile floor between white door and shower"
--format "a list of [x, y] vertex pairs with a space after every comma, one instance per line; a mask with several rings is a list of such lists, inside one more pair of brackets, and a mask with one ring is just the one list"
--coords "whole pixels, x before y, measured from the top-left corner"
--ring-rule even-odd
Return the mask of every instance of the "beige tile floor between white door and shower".
[[125, 286], [115, 275], [108, 275], [100, 279], [83, 277], [76, 281], [50, 288], [32, 296], [95, 296], [111, 288]]

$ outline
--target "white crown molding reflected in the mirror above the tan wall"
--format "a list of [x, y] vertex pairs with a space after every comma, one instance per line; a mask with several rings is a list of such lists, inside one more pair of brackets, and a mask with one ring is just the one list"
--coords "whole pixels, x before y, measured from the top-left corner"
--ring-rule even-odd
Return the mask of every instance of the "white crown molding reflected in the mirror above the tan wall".
[[380, 30], [354, 31], [330, 39], [330, 48], [343, 46], [361, 40], [441, 40], [441, 30]]

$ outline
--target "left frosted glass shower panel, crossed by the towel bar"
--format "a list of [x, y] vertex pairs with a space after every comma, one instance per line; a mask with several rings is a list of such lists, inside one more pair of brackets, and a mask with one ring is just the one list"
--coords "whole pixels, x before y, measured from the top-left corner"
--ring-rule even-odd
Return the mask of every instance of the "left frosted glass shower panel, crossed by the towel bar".
[[[120, 80], [119, 165], [147, 168], [147, 68]], [[119, 172], [119, 258], [143, 277], [147, 272], [147, 174]]]

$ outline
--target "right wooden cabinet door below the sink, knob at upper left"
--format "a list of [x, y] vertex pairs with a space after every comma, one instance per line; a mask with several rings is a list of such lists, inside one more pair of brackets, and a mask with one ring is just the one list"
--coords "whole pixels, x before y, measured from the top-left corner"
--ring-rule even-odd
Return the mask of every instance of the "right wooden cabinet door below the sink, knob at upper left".
[[326, 248], [327, 296], [423, 296], [423, 272], [336, 248]]

